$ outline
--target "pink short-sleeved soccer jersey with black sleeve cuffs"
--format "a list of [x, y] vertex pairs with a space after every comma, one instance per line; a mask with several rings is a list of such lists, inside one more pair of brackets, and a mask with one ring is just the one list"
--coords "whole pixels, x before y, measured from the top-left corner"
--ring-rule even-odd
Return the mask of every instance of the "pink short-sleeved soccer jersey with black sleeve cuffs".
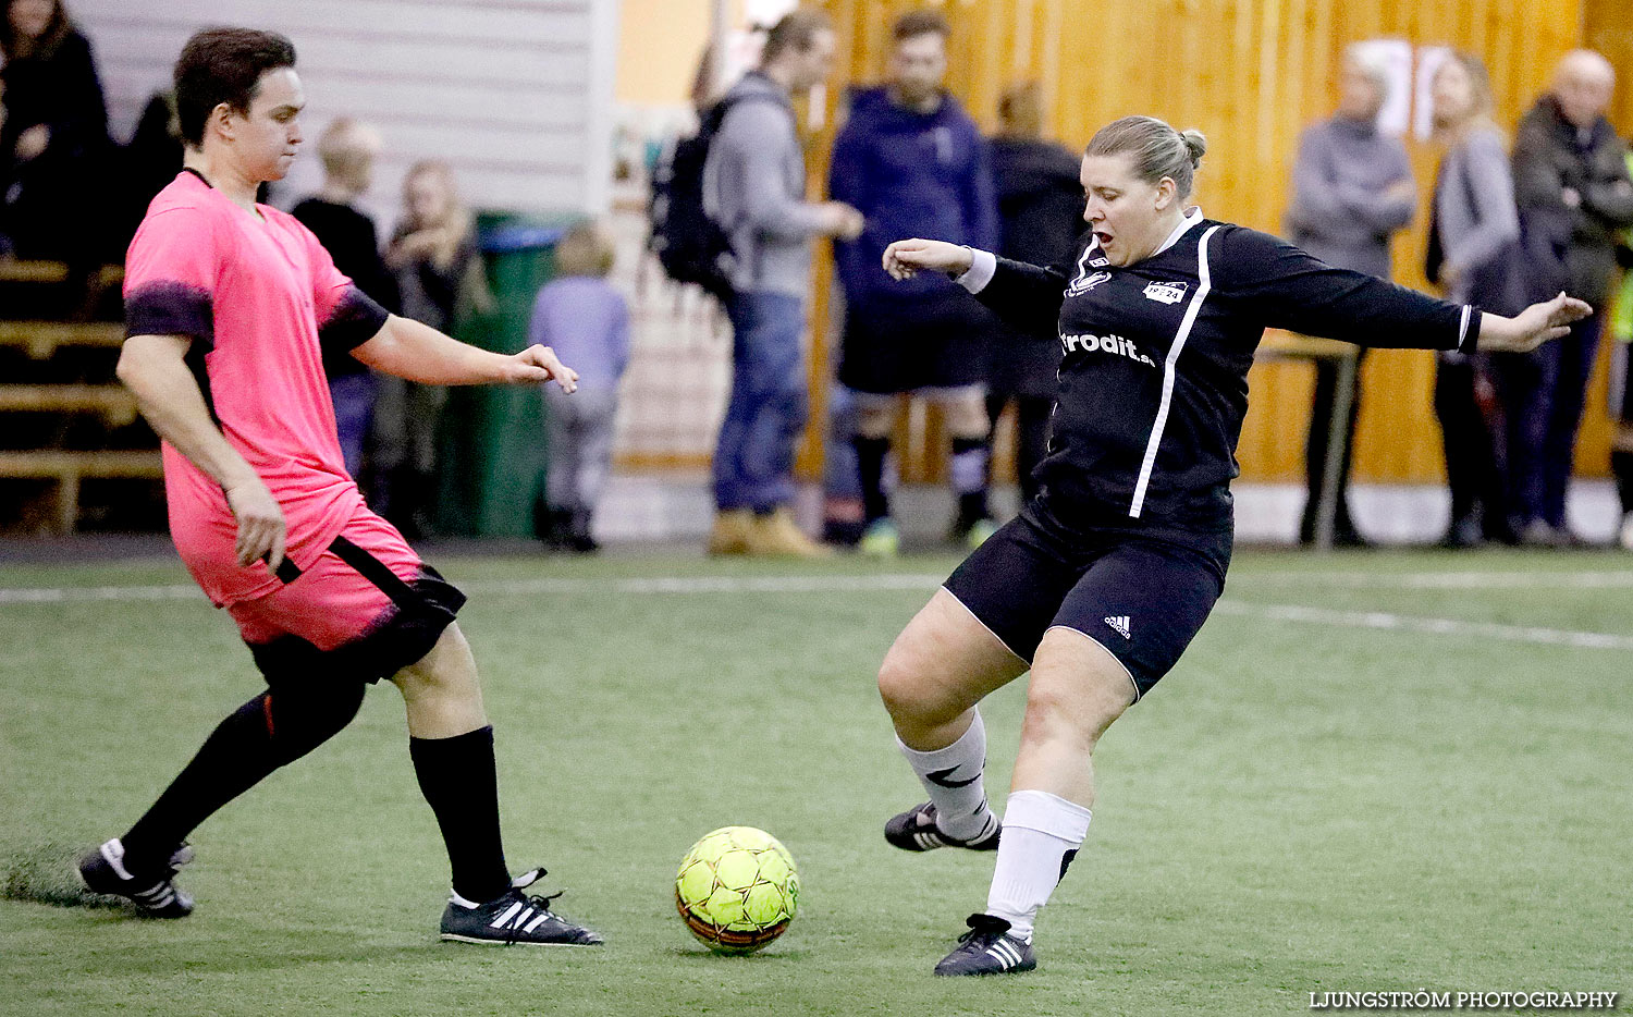
[[[367, 341], [385, 312], [292, 215], [256, 211], [191, 171], [160, 191], [126, 256], [126, 333], [193, 340], [199, 389], [283, 508], [287, 555], [304, 570], [366, 511], [341, 460], [322, 346]], [[170, 532], [204, 593], [225, 606], [278, 589], [265, 563], [238, 566], [220, 485], [168, 442], [163, 457]]]

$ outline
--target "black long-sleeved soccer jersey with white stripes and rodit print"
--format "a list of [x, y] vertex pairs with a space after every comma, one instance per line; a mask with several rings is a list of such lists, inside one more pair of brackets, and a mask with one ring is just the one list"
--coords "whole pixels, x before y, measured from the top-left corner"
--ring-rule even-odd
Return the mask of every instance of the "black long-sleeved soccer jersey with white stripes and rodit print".
[[1037, 480], [1066, 526], [1228, 531], [1248, 369], [1266, 328], [1424, 349], [1473, 349], [1479, 335], [1473, 307], [1333, 268], [1197, 209], [1137, 264], [1107, 264], [1089, 233], [1073, 264], [999, 258], [977, 295], [1027, 331], [1060, 336]]

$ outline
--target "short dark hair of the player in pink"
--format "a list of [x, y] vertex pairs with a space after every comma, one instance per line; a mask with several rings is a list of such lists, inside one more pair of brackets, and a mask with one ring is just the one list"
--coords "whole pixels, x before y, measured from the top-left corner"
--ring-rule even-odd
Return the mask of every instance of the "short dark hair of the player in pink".
[[204, 122], [216, 106], [227, 103], [229, 109], [248, 113], [261, 75], [294, 65], [294, 42], [274, 31], [206, 28], [193, 33], [176, 57], [181, 140], [202, 145]]

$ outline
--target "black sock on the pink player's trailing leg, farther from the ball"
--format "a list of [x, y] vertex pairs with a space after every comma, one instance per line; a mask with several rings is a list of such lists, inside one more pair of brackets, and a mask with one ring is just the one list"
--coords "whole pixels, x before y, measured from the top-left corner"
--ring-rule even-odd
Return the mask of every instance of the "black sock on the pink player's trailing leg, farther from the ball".
[[276, 689], [234, 710], [121, 837], [126, 868], [136, 873], [165, 868], [170, 854], [199, 823], [351, 723], [363, 689], [361, 682]]

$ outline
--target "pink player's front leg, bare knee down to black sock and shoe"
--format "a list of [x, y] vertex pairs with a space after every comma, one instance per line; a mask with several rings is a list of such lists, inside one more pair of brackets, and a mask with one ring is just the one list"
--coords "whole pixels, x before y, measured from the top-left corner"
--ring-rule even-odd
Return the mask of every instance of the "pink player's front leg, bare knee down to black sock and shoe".
[[601, 937], [550, 911], [550, 899], [523, 893], [542, 868], [511, 882], [500, 837], [493, 728], [470, 645], [457, 624], [392, 682], [408, 708], [408, 754], [420, 790], [436, 813], [454, 870], [443, 911], [444, 940], [469, 944], [594, 945]]

